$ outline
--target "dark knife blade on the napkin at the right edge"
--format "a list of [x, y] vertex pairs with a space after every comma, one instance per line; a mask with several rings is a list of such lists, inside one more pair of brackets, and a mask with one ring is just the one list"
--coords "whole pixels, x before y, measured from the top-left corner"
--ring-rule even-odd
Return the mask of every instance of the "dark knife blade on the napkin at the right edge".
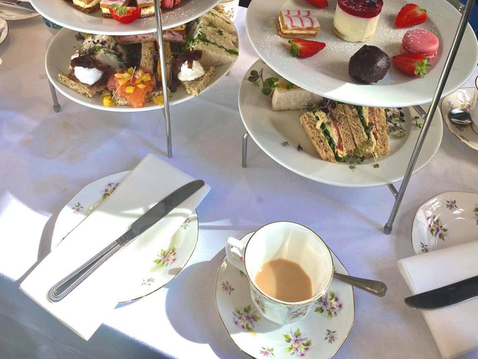
[[478, 297], [478, 275], [405, 298], [412, 309], [440, 309]]

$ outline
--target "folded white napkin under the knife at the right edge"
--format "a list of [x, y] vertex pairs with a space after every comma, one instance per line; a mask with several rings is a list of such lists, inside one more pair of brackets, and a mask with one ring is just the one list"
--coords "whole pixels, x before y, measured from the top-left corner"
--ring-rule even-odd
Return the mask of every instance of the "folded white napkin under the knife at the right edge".
[[[478, 275], [478, 241], [398, 261], [412, 294]], [[478, 348], [478, 298], [451, 307], [421, 311], [443, 358]]]

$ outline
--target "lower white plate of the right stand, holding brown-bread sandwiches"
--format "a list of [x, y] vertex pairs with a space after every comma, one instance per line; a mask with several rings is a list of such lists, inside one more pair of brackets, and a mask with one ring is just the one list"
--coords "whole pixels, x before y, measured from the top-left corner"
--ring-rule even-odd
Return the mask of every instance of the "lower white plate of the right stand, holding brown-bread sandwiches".
[[[251, 70], [259, 72], [260, 69], [263, 69], [264, 79], [278, 76], [261, 60], [252, 65], [240, 84], [239, 111], [252, 139], [274, 161], [308, 179], [345, 187], [373, 187], [403, 179], [420, 133], [413, 120], [417, 115], [413, 108], [402, 109], [406, 135], [401, 139], [390, 138], [390, 154], [377, 160], [379, 168], [373, 167], [373, 160], [365, 160], [351, 170], [347, 164], [333, 164], [319, 159], [299, 122], [299, 115], [305, 110], [272, 111], [270, 96], [262, 94], [260, 88], [247, 79]], [[428, 109], [428, 105], [424, 109]], [[443, 124], [437, 109], [413, 173], [433, 158], [440, 147], [442, 135]], [[283, 146], [285, 141], [292, 146]], [[302, 146], [303, 151], [297, 151], [294, 147], [297, 144]]]

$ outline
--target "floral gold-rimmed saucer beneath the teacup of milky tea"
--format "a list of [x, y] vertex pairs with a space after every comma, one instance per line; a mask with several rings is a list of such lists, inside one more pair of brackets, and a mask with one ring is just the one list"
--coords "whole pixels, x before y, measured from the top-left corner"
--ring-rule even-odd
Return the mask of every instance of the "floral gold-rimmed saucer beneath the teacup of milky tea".
[[[247, 243], [252, 233], [241, 241]], [[332, 252], [332, 251], [331, 251]], [[332, 252], [335, 270], [349, 274]], [[355, 321], [354, 290], [333, 280], [327, 293], [301, 321], [280, 326], [264, 319], [250, 298], [247, 276], [221, 261], [216, 278], [216, 306], [226, 331], [248, 356], [256, 359], [332, 358], [342, 347]]]

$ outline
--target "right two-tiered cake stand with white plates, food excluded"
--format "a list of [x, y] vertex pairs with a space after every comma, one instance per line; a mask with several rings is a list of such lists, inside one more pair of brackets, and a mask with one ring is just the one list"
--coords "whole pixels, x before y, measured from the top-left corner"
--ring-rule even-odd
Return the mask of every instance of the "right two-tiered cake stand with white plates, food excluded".
[[[378, 46], [390, 57], [399, 53], [401, 38], [408, 28], [396, 29], [394, 19], [399, 9], [407, 2], [409, 1], [384, 1], [377, 31], [367, 45]], [[239, 90], [239, 110], [247, 129], [242, 137], [242, 166], [246, 167], [247, 165], [247, 138], [251, 136], [272, 159], [309, 179], [348, 187], [387, 185], [395, 198], [388, 222], [383, 228], [383, 231], [389, 234], [411, 175], [431, 160], [440, 145], [443, 131], [442, 121], [435, 120], [432, 125], [440, 98], [463, 86], [477, 66], [477, 38], [468, 24], [474, 2], [474, 0], [467, 0], [465, 6], [457, 5], [455, 8], [446, 0], [420, 0], [420, 7], [427, 9], [429, 18], [417, 27], [436, 33], [440, 39], [438, 55], [431, 61], [433, 66], [429, 73], [424, 79], [410, 78], [401, 74], [392, 65], [386, 77], [377, 84], [361, 85], [354, 83], [349, 77], [348, 62], [350, 56], [363, 44], [347, 43], [333, 34], [332, 23], [337, 5], [335, 0], [329, 0], [329, 7], [321, 9], [310, 5], [306, 0], [279, 2], [252, 0], [247, 11], [246, 28], [254, 50], [265, 65], [262, 66], [264, 79], [269, 76], [280, 76], [305, 90], [342, 102], [374, 107], [399, 107], [408, 116], [418, 115], [422, 125], [419, 126], [421, 129], [412, 125], [415, 127], [412, 132], [415, 133], [407, 134], [410, 137], [407, 138], [407, 141], [404, 140], [404, 143], [398, 146], [391, 143], [390, 155], [378, 159], [378, 166], [373, 168], [373, 163], [359, 164], [355, 175], [348, 175], [345, 173], [345, 171], [350, 171], [347, 164], [330, 164], [320, 161], [314, 155], [313, 149], [306, 154], [307, 151], [304, 147], [304, 155], [308, 157], [298, 157], [300, 155], [294, 148], [297, 143], [290, 143], [292, 136], [289, 136], [291, 132], [297, 132], [297, 128], [301, 127], [298, 124], [297, 113], [292, 113], [289, 121], [285, 121], [284, 114], [279, 112], [289, 111], [272, 113], [269, 110], [270, 98], [257, 94], [256, 98], [262, 96], [267, 99], [254, 102], [253, 97], [248, 95], [248, 92], [254, 89], [252, 84], [247, 81], [249, 76], [247, 73]], [[317, 40], [325, 42], [326, 48], [308, 59], [297, 59], [290, 56], [287, 39], [277, 36], [275, 21], [280, 9], [310, 9], [318, 12], [321, 32]], [[464, 41], [460, 46], [462, 39]], [[251, 69], [261, 70], [258, 63], [254, 64]], [[449, 76], [450, 74], [452, 76]], [[251, 87], [247, 88], [247, 86]], [[432, 94], [433, 88], [436, 90]], [[258, 89], [256, 91], [260, 92]], [[267, 101], [268, 103], [265, 104]], [[261, 102], [264, 103], [263, 107], [267, 106], [267, 110], [258, 112]], [[427, 103], [429, 103], [429, 108], [428, 111], [425, 111], [420, 105]], [[440, 117], [439, 112], [436, 117]], [[433, 130], [429, 138], [426, 139], [430, 126]], [[307, 138], [305, 134], [297, 136], [299, 137], [295, 137], [295, 140]], [[280, 140], [280, 138], [283, 139]], [[410, 139], [413, 142], [410, 142]], [[279, 141], [284, 141], [283, 146], [280, 146]], [[277, 144], [279, 145], [277, 146]], [[424, 151], [420, 154], [424, 144]], [[394, 151], [396, 150], [393, 154], [392, 147], [394, 147]], [[409, 149], [408, 152], [402, 150], [406, 147]], [[396, 161], [395, 166], [390, 164], [392, 158]], [[292, 159], [297, 161], [293, 162]], [[415, 168], [417, 161], [418, 165]], [[304, 164], [309, 166], [305, 168]], [[371, 170], [372, 168], [373, 170]], [[393, 173], [397, 171], [397, 168], [402, 169], [403, 172]], [[375, 172], [373, 172], [374, 170]], [[393, 183], [400, 180], [402, 183], [397, 190]]]

